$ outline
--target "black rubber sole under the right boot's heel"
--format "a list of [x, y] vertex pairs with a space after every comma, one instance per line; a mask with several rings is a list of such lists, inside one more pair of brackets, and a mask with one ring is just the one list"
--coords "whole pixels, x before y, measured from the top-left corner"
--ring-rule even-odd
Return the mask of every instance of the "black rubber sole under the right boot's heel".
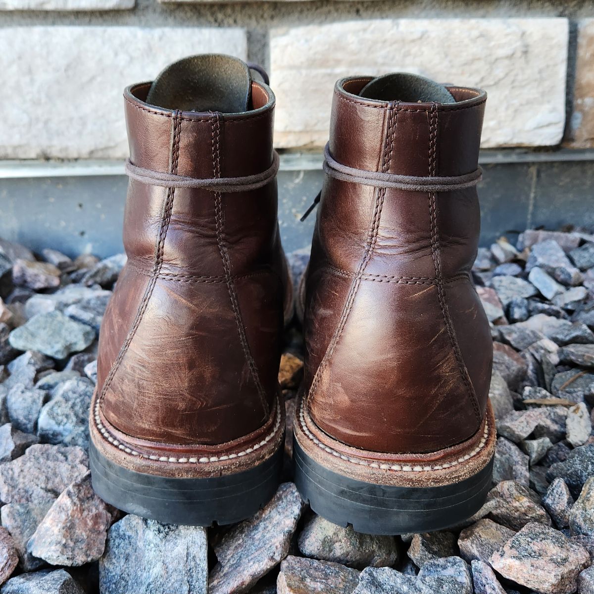
[[493, 460], [462, 482], [446, 486], [374, 485], [328, 470], [293, 440], [295, 484], [315, 513], [356, 532], [397, 535], [456, 526], [475, 514], [491, 488]]

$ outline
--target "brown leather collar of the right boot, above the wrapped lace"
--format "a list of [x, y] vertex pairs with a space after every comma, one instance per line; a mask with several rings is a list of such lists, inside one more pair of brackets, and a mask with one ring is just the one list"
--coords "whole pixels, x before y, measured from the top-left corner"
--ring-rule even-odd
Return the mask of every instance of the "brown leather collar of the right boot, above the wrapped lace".
[[364, 99], [359, 92], [372, 78], [343, 78], [334, 87], [329, 149], [337, 162], [380, 171], [388, 160], [388, 173], [426, 176], [435, 151], [435, 175], [478, 167], [485, 91], [447, 86], [456, 99], [448, 104]]

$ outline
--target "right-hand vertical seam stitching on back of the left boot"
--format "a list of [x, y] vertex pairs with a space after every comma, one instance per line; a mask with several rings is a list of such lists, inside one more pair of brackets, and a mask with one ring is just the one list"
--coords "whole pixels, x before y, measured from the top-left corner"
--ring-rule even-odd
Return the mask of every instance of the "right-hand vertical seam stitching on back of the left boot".
[[[220, 178], [221, 173], [221, 160], [220, 160], [220, 116], [219, 113], [213, 113], [211, 119], [211, 143], [213, 149], [213, 172], [215, 178]], [[260, 375], [258, 374], [258, 369], [254, 361], [254, 357], [252, 356], [251, 349], [249, 348], [249, 343], [247, 340], [247, 336], [245, 336], [245, 327], [244, 322], [242, 320], [241, 309], [239, 308], [239, 302], [237, 298], [237, 292], [235, 289], [235, 282], [233, 281], [233, 277], [231, 274], [231, 260], [229, 257], [229, 251], [226, 246], [225, 242], [225, 231], [224, 231], [224, 215], [223, 215], [223, 205], [222, 205], [222, 197], [221, 192], [216, 192], [214, 194], [214, 220], [216, 224], [216, 233], [217, 233], [217, 247], [219, 248], [219, 253], [221, 256], [221, 260], [223, 263], [223, 271], [225, 273], [225, 283], [227, 285], [227, 290], [229, 292], [229, 299], [231, 302], [231, 309], [233, 311], [233, 318], [235, 320], [235, 325], [237, 327], [237, 333], [239, 335], [239, 342], [241, 343], [242, 350], [244, 351], [245, 361], [248, 364], [249, 372], [252, 376], [252, 380], [254, 380], [254, 384], [256, 386], [256, 390], [258, 392], [258, 396], [260, 397], [261, 405], [264, 409], [264, 418], [270, 413], [268, 402], [266, 400], [266, 394], [264, 393], [264, 388], [260, 381]]]

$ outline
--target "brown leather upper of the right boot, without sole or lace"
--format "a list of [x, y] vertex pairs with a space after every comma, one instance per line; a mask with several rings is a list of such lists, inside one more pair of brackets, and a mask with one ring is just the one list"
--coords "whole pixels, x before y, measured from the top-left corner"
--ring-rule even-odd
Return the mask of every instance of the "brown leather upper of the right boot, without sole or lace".
[[[411, 176], [478, 167], [486, 96], [456, 103], [362, 99], [370, 78], [334, 90], [330, 154], [343, 165]], [[313, 421], [364, 450], [437, 451], [485, 415], [492, 346], [470, 280], [476, 187], [429, 194], [327, 177], [305, 290], [305, 394]]]

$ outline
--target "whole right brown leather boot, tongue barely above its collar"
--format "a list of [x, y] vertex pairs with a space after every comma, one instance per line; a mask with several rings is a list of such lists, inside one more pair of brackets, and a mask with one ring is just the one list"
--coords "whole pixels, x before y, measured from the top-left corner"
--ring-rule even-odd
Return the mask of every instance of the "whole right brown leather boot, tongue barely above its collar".
[[491, 486], [491, 335], [470, 280], [485, 99], [406, 74], [334, 90], [295, 481], [359, 532], [454, 525]]

